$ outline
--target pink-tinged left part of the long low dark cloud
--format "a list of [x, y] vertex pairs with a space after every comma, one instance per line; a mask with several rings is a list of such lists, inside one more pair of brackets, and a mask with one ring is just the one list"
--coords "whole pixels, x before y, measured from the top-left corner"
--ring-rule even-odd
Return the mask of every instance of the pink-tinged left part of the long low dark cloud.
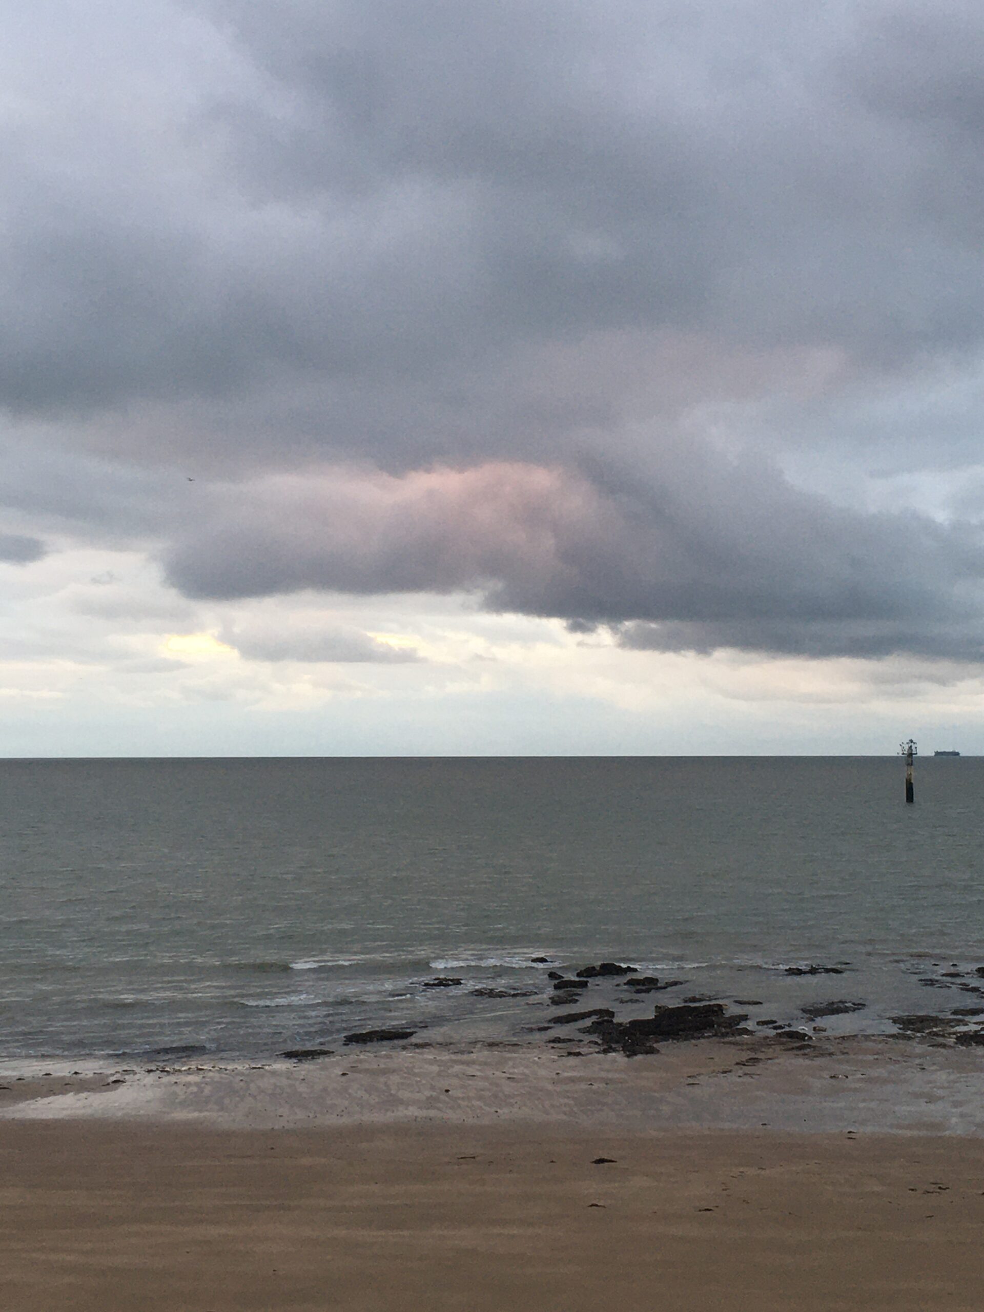
[[580, 476], [535, 464], [289, 475], [226, 492], [168, 567], [198, 597], [546, 586], [604, 514]]

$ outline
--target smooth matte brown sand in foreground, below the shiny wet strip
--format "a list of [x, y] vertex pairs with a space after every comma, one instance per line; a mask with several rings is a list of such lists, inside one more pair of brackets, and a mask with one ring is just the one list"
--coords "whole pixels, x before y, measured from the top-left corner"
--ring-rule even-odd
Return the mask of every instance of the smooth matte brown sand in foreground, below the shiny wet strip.
[[7, 1122], [0, 1305], [976, 1312], [983, 1149], [956, 1136]]

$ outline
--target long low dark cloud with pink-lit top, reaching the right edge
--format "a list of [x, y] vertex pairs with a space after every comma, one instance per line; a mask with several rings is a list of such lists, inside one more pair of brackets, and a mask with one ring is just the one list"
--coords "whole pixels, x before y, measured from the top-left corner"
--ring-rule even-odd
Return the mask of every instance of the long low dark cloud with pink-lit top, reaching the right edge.
[[165, 562], [185, 594], [467, 590], [635, 647], [980, 653], [974, 525], [869, 514], [761, 459], [670, 447], [647, 479], [489, 462], [226, 488]]

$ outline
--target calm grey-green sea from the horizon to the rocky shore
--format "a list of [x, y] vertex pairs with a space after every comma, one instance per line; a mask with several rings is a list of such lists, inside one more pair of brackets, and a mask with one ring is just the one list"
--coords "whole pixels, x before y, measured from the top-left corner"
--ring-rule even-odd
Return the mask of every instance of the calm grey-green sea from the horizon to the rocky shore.
[[0, 1055], [521, 1035], [551, 967], [601, 959], [681, 980], [623, 1015], [966, 1005], [984, 760], [916, 783], [907, 807], [892, 758], [0, 762]]

